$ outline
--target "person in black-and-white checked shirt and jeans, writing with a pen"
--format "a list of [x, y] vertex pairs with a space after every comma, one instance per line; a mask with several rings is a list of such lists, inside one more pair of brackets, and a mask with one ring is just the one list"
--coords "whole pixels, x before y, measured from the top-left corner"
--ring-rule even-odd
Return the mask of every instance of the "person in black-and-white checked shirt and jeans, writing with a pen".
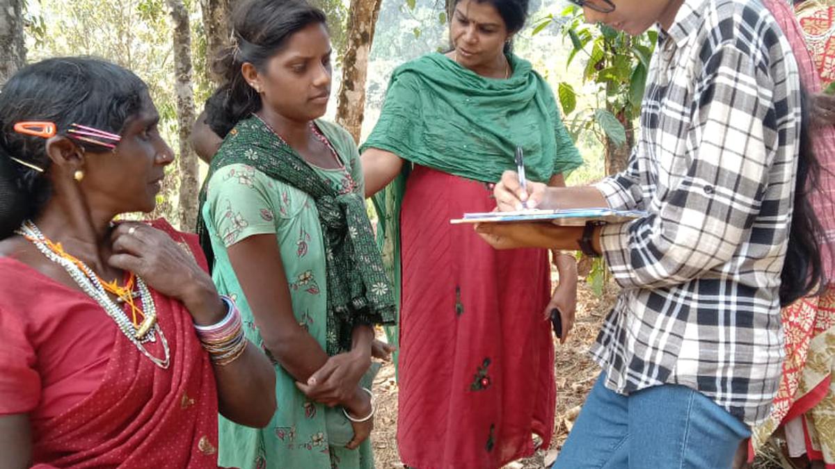
[[780, 306], [821, 280], [817, 162], [792, 48], [760, 0], [577, 0], [586, 20], [659, 28], [628, 167], [589, 187], [506, 173], [498, 209], [610, 207], [624, 224], [478, 224], [498, 249], [603, 255], [622, 287], [592, 346], [600, 378], [554, 467], [729, 467], [764, 420]]

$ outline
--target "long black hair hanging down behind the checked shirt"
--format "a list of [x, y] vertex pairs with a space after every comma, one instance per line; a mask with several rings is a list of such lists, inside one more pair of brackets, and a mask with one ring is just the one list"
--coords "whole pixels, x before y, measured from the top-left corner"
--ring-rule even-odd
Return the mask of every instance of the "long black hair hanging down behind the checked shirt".
[[812, 151], [810, 102], [801, 92], [802, 118], [800, 149], [797, 154], [797, 179], [794, 188], [792, 228], [786, 260], [780, 274], [780, 305], [790, 305], [803, 296], [819, 293], [826, 279], [823, 274], [821, 243], [823, 229], [812, 208], [809, 195], [819, 190], [821, 164]]

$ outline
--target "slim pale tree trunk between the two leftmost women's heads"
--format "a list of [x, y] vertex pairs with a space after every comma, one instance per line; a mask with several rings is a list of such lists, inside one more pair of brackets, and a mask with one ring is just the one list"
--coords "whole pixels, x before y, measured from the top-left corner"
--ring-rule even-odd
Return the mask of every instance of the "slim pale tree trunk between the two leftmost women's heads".
[[197, 155], [191, 150], [189, 134], [195, 122], [195, 94], [191, 88], [191, 33], [189, 11], [183, 0], [168, 0], [174, 20], [174, 73], [177, 97], [177, 126], [180, 129], [180, 229], [197, 224]]

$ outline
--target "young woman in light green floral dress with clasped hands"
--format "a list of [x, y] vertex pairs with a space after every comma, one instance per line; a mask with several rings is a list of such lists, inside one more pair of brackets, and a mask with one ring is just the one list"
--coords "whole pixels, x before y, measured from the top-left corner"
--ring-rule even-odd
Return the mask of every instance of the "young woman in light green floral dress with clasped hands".
[[303, 0], [235, 12], [225, 84], [205, 122], [224, 138], [200, 194], [200, 241], [245, 335], [276, 366], [269, 426], [220, 417], [220, 465], [373, 466], [373, 324], [392, 288], [365, 211], [352, 137], [321, 121], [331, 88], [325, 16]]

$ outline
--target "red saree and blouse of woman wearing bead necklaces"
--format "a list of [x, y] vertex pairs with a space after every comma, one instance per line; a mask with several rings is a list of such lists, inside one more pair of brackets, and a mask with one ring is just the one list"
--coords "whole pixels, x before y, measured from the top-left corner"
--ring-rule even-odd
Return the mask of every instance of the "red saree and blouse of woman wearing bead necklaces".
[[[196, 238], [154, 222], [200, 260]], [[159, 368], [104, 310], [0, 258], [0, 414], [27, 413], [36, 467], [217, 467], [217, 395], [185, 307], [152, 291], [170, 366]], [[164, 355], [160, 340], [146, 344]]]

